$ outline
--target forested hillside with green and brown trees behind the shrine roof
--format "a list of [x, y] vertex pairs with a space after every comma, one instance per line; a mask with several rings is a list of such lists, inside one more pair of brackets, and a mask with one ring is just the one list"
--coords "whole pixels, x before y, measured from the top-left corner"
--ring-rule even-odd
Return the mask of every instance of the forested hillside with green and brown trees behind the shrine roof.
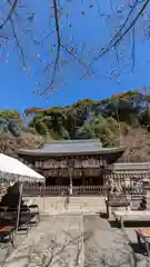
[[150, 97], [137, 90], [72, 106], [0, 111], [0, 150], [33, 148], [53, 139], [100, 138], [104, 147], [127, 146], [121, 160], [150, 160]]

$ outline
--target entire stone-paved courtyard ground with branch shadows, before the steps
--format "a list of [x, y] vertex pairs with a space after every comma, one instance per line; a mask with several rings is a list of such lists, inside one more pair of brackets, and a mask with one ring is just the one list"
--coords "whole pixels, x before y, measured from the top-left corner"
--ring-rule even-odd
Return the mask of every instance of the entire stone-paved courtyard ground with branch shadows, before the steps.
[[[127, 231], [131, 233], [134, 243], [133, 230]], [[97, 215], [44, 216], [21, 236], [3, 267], [150, 266], [148, 257], [133, 251], [127, 234]]]

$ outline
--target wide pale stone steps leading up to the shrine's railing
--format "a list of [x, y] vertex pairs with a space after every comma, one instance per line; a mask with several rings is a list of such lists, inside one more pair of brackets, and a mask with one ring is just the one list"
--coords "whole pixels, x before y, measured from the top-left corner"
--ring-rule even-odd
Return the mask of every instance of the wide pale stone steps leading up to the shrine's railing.
[[106, 210], [103, 197], [70, 197], [66, 204], [66, 197], [26, 197], [30, 204], [39, 205], [40, 211], [46, 214], [96, 214]]

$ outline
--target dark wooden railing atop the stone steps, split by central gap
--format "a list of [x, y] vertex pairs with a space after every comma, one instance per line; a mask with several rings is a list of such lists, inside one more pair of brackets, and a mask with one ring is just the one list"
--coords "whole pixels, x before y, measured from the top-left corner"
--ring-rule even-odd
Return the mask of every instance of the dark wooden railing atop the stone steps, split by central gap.
[[[23, 196], [66, 196], [68, 186], [26, 186], [23, 188]], [[104, 186], [73, 186], [72, 195], [99, 195], [104, 196], [107, 187]]]

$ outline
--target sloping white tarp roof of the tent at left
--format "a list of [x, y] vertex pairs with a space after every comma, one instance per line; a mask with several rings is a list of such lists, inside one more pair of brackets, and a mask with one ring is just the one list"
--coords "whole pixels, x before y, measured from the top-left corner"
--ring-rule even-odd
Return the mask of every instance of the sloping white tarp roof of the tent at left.
[[0, 179], [11, 181], [44, 182], [44, 177], [16, 158], [0, 154]]

